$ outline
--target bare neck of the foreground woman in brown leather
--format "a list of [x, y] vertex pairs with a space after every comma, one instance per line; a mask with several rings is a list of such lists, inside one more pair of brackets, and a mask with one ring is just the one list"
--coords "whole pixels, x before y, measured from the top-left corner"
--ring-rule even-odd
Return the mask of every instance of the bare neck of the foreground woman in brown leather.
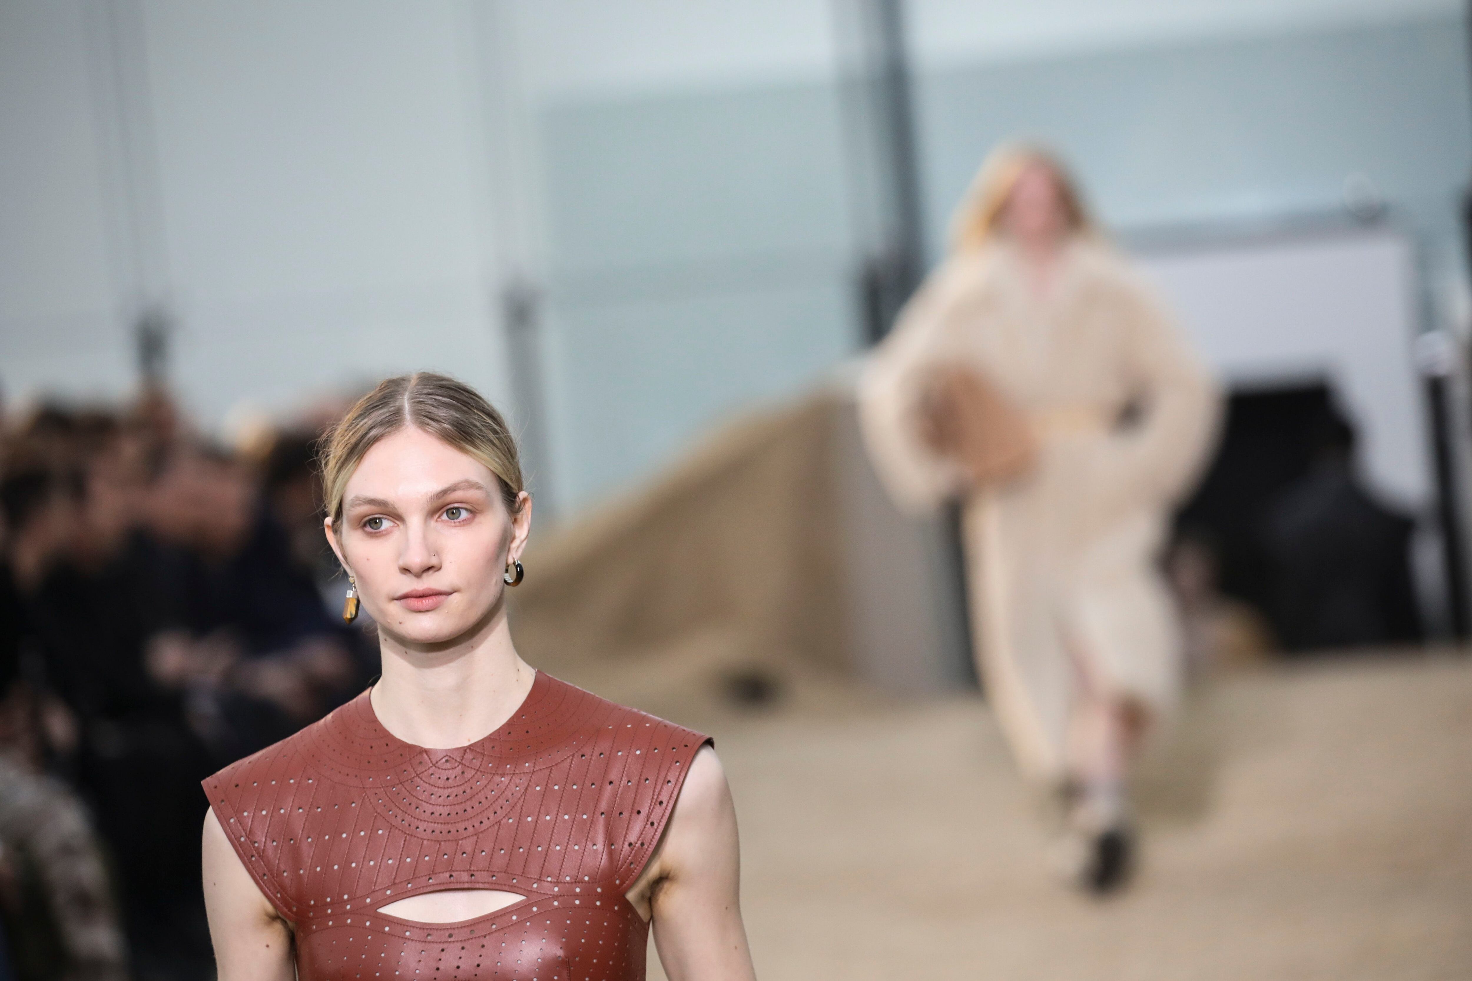
[[462, 641], [414, 650], [381, 637], [383, 677], [369, 693], [378, 724], [412, 746], [470, 746], [509, 719], [536, 679], [511, 643], [505, 610]]

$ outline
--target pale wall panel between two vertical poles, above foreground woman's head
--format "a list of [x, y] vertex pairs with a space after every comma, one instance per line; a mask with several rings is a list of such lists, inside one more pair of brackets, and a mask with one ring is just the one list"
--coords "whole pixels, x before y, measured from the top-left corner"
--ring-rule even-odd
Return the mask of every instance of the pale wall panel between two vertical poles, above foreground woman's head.
[[146, 13], [177, 377], [200, 409], [418, 366], [499, 394], [462, 9]]

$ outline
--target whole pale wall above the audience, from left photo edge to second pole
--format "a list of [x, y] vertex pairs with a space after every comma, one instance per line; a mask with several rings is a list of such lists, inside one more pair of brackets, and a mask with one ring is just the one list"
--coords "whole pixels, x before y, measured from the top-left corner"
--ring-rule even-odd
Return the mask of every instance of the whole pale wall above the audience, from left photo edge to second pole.
[[[77, 3], [0, 10], [0, 201], [18, 218], [0, 222], [0, 377], [16, 394], [125, 391], [140, 302], [172, 310], [171, 375], [206, 425], [414, 368], [505, 391], [464, 4], [118, 0], [121, 65], [88, 50], [107, 24]], [[110, 100], [109, 82], [143, 91]], [[116, 104], [141, 106], [127, 122], [152, 172], [112, 176], [156, 185], [122, 216], [158, 229], [141, 282], [99, 244], [121, 162], [97, 132]]]

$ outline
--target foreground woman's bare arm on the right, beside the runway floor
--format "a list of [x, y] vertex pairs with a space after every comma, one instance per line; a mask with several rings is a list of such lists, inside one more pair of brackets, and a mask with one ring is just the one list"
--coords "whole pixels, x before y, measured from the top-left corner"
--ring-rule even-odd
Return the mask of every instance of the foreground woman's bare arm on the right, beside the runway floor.
[[755, 981], [740, 919], [736, 807], [710, 746], [690, 762], [664, 840], [627, 896], [652, 916], [670, 981]]

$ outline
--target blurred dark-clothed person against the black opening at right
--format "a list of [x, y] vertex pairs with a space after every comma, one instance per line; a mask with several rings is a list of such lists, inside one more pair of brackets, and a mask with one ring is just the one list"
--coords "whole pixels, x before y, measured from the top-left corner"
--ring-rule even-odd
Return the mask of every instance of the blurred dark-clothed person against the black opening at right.
[[1319, 424], [1314, 463], [1263, 522], [1273, 622], [1294, 650], [1418, 643], [1410, 574], [1415, 522], [1370, 497], [1354, 472], [1354, 429]]

